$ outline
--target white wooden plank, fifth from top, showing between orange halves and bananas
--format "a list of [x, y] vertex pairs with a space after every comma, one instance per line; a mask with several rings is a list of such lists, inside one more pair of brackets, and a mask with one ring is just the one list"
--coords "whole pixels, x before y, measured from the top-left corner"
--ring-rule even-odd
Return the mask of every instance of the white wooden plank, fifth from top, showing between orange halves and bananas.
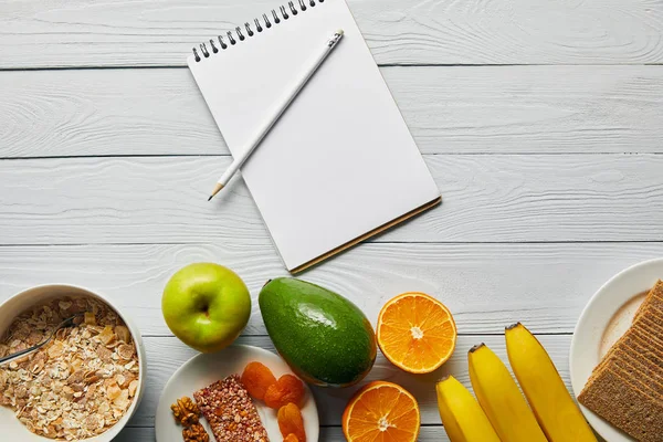
[[[570, 379], [568, 371], [568, 352], [571, 343], [571, 336], [544, 335], [538, 336], [541, 344], [546, 347], [552, 361], [557, 366], [562, 379], [570, 389]], [[239, 339], [242, 344], [254, 345], [274, 351], [272, 341], [267, 336], [263, 337], [242, 337]], [[161, 390], [170, 376], [186, 360], [193, 357], [196, 351], [189, 349], [177, 338], [152, 337], [146, 338], [146, 350], [150, 376], [147, 378], [145, 396], [143, 402], [131, 419], [130, 424], [135, 427], [154, 425], [154, 417]], [[456, 350], [452, 358], [439, 370], [430, 375], [410, 375], [387, 361], [381, 354], [371, 372], [357, 387], [344, 389], [326, 389], [314, 387], [314, 396], [318, 408], [322, 425], [339, 425], [343, 410], [352, 393], [364, 383], [371, 380], [388, 380], [404, 387], [410, 391], [419, 402], [421, 409], [422, 424], [440, 424], [440, 414], [438, 412], [438, 401], [435, 398], [435, 381], [446, 375], [453, 375], [456, 379], [470, 387], [470, 376], [467, 373], [467, 350], [475, 344], [485, 343], [508, 366], [503, 336], [462, 336], [459, 337]]]

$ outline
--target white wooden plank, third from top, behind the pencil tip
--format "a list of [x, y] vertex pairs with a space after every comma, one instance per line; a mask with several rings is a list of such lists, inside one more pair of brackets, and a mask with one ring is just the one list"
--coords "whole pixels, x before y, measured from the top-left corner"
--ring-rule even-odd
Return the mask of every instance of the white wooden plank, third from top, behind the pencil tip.
[[[229, 157], [0, 161], [0, 244], [267, 241]], [[375, 241], [660, 241], [663, 156], [429, 156], [443, 203]]]

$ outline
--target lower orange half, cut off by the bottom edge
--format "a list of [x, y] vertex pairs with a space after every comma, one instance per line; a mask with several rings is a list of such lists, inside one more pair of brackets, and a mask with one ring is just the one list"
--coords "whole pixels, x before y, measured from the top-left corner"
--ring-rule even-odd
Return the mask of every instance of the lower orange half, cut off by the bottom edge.
[[392, 382], [368, 383], [343, 413], [348, 442], [415, 442], [420, 424], [417, 399]]

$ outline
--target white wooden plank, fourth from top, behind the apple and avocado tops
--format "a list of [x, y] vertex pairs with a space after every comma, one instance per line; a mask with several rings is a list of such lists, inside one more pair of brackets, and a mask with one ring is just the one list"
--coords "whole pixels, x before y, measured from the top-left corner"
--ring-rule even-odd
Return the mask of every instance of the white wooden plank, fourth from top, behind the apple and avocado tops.
[[[402, 292], [436, 296], [461, 334], [497, 334], [522, 320], [536, 333], [571, 333], [590, 296], [612, 275], [663, 256], [660, 243], [364, 244], [302, 275], [357, 304], [376, 323]], [[170, 335], [161, 316], [166, 282], [191, 262], [233, 269], [253, 295], [246, 335], [264, 335], [257, 294], [286, 275], [270, 244], [0, 248], [0, 302], [63, 282], [106, 294], [145, 335]]]

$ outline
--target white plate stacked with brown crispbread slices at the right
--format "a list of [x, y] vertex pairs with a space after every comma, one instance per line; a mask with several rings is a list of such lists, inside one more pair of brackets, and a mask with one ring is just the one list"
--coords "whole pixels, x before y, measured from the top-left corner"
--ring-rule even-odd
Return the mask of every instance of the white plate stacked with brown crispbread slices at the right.
[[573, 333], [570, 375], [585, 417], [609, 442], [663, 434], [663, 259], [619, 273]]

